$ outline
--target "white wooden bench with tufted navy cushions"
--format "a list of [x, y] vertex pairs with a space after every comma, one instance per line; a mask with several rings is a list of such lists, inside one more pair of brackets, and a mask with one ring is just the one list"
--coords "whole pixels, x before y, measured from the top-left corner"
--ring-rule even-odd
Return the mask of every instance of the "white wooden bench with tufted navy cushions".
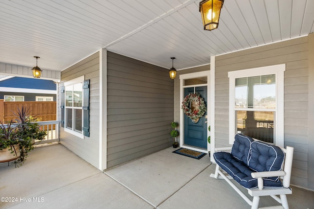
[[[266, 151], [262, 151], [262, 154], [260, 153], [260, 151], [264, 148], [262, 147], [261, 149], [260, 146], [266, 147]], [[224, 152], [226, 150], [232, 150], [232, 152]], [[283, 153], [285, 153], [283, 154], [284, 157], [282, 159], [278, 157], [280, 154], [282, 154], [279, 150], [282, 150]], [[268, 156], [265, 156], [268, 155], [265, 154], [268, 152], [273, 152], [272, 156], [269, 156], [269, 159]], [[292, 168], [293, 147], [287, 146], [287, 148], [284, 149], [271, 144], [267, 144], [265, 142], [261, 142], [257, 139], [252, 139], [250, 137], [237, 134], [235, 135], [235, 143], [233, 147], [216, 148], [216, 152], [213, 154], [213, 156], [217, 164], [215, 173], [211, 174], [210, 177], [226, 180], [227, 183], [232, 186], [235, 191], [250, 206], [252, 206], [251, 209], [258, 209], [260, 196], [271, 196], [277, 202], [282, 204], [282, 206], [267, 207], [268, 209], [289, 208], [286, 195], [292, 193], [292, 190], [291, 188], [289, 188], [289, 186]], [[255, 161], [252, 159], [255, 159]], [[280, 160], [282, 160], [282, 165], [280, 165], [278, 168]], [[259, 164], [259, 162], [262, 164], [266, 164], [266, 171], [256, 171], [256, 169], [262, 169], [261, 166], [259, 167], [259, 165], [257, 165]], [[273, 166], [276, 163], [278, 164], [277, 168], [276, 166]], [[238, 169], [237, 167], [235, 167], [238, 165], [241, 168]], [[247, 168], [245, 168], [245, 166], [247, 166]], [[243, 169], [245, 171], [243, 171]], [[248, 175], [247, 169], [252, 170], [250, 172], [251, 176]], [[232, 178], [235, 179], [236, 182], [239, 183], [241, 186], [244, 185], [243, 187], [247, 189], [248, 194], [253, 197], [253, 201], [251, 201], [237, 186], [235, 186], [235, 184], [230, 180]], [[274, 187], [272, 186], [272, 183], [279, 184], [279, 186]]]

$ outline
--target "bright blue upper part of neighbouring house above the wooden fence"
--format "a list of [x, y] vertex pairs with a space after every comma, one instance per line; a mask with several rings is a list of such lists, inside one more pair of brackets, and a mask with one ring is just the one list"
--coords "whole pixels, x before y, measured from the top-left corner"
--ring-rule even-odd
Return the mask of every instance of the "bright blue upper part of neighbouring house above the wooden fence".
[[13, 77], [0, 81], [0, 87], [56, 90], [56, 84], [51, 80]]

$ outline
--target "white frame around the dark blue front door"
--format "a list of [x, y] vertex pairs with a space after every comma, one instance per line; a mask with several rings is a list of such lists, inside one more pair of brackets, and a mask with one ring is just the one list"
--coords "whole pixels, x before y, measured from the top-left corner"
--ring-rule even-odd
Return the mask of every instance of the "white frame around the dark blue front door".
[[[198, 85], [190, 85], [190, 86], [184, 86], [183, 81], [184, 79], [192, 79], [192, 78], [199, 78], [199, 77], [207, 77], [207, 84], [198, 84]], [[184, 91], [183, 88], [188, 88], [188, 87], [197, 87], [197, 86], [207, 86], [207, 127], [210, 125], [210, 70], [206, 70], [206, 71], [201, 71], [201, 72], [192, 72], [192, 73], [187, 73], [187, 74], [182, 74], [179, 76], [180, 78], [180, 101], [183, 101], [183, 97], [184, 97]], [[180, 133], [184, 133], [184, 122], [183, 122], [183, 110], [181, 108], [181, 103], [180, 103]], [[204, 115], [205, 116], [205, 115]], [[203, 117], [204, 117], [203, 116]], [[210, 135], [210, 132], [207, 128], [207, 137]], [[188, 145], [184, 145], [184, 134], [180, 134], [180, 147], [183, 148], [187, 148], [187, 149], [191, 149], [194, 151], [198, 151], [198, 152], [209, 152], [210, 151], [210, 144], [207, 142], [207, 150], [206, 149], [200, 149], [200, 148], [196, 148], [193, 146], [188, 146]]]

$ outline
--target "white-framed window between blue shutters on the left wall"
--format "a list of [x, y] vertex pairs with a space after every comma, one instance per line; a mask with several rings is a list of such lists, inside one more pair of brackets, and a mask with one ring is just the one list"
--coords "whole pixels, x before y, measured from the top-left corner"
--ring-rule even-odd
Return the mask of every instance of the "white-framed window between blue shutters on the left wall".
[[83, 137], [83, 81], [84, 76], [64, 83], [64, 130], [68, 133]]

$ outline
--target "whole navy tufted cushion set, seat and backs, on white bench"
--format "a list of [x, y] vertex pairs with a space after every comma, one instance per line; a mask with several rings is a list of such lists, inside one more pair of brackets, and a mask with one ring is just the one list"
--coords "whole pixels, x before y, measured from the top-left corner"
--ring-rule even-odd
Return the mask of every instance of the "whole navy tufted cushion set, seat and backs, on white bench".
[[[245, 188], [256, 188], [257, 179], [252, 172], [281, 170], [285, 153], [277, 146], [254, 141], [242, 134], [235, 135], [231, 153], [213, 154], [216, 163]], [[264, 187], [282, 187], [279, 177], [263, 178]]]

